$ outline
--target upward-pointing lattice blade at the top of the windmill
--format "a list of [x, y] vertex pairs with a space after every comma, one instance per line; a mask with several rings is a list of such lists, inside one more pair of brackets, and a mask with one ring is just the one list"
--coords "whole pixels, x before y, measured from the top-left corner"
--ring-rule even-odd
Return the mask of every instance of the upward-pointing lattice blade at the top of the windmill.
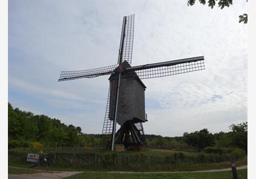
[[126, 60], [129, 64], [132, 64], [134, 17], [134, 14], [125, 17], [123, 47], [121, 48], [122, 62]]

